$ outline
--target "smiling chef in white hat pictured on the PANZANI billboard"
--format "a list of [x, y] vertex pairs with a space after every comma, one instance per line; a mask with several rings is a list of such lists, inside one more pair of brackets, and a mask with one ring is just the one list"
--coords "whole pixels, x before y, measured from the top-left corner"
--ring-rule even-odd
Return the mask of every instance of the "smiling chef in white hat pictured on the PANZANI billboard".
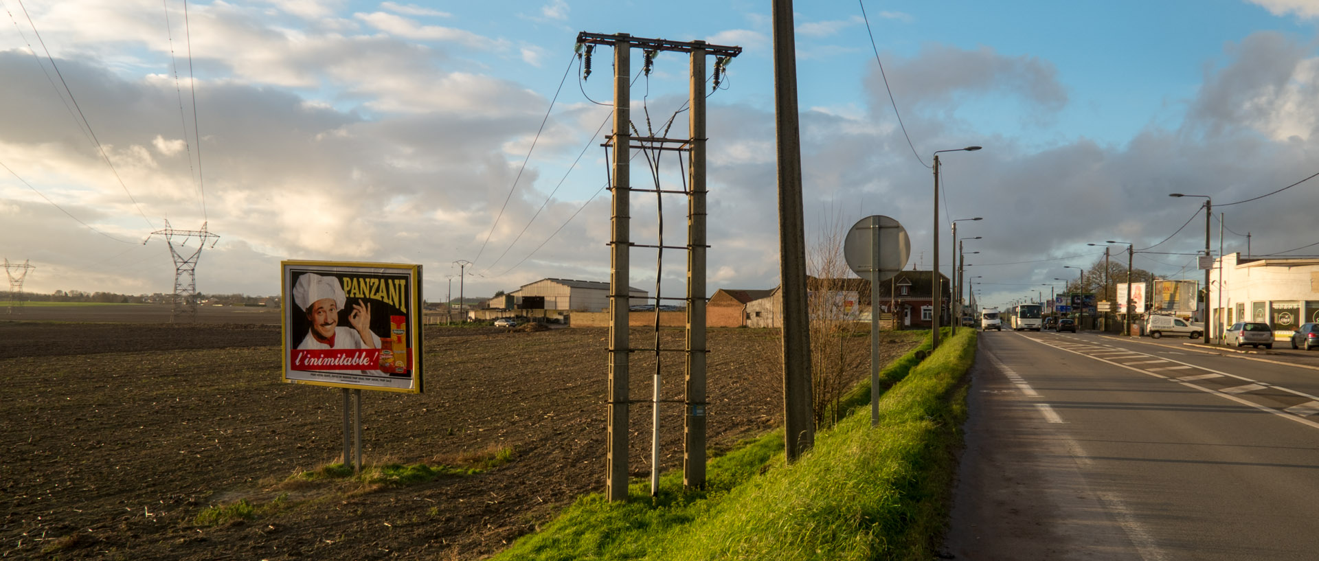
[[351, 328], [339, 327], [343, 309], [343, 287], [339, 279], [306, 273], [293, 284], [293, 302], [307, 312], [311, 329], [298, 349], [379, 349], [380, 337], [371, 332], [371, 304], [360, 300], [348, 313]]

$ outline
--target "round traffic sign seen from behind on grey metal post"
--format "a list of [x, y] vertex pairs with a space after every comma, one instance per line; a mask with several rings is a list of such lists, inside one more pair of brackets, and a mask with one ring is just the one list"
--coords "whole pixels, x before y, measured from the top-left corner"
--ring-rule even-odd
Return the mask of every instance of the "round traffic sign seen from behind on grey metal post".
[[898, 274], [911, 257], [911, 238], [897, 220], [867, 216], [843, 240], [843, 258], [857, 277], [871, 279], [871, 427], [880, 424], [880, 280]]

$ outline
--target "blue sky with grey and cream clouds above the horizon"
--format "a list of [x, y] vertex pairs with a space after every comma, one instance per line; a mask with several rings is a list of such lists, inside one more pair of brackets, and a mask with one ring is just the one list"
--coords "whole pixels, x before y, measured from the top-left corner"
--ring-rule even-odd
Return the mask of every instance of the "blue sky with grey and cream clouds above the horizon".
[[[26, 292], [169, 294], [153, 233], [203, 224], [203, 294], [277, 295], [281, 259], [419, 263], [430, 302], [608, 280], [613, 53], [583, 76], [579, 32], [743, 47], [706, 90], [707, 284], [778, 284], [769, 1], [0, 8], [0, 257], [36, 267]], [[933, 266], [936, 229], [947, 271], [950, 221], [983, 217], [958, 223], [983, 304], [1062, 290], [1108, 240], [1199, 278], [1204, 199], [1173, 192], [1211, 198], [1215, 253], [1221, 212], [1225, 253], [1319, 254], [1319, 0], [798, 1], [794, 20], [809, 254], [884, 215], [906, 269]], [[640, 132], [689, 136], [685, 55], [632, 92]], [[935, 228], [931, 157], [972, 145], [940, 154]], [[685, 198], [633, 194], [630, 215], [634, 242], [686, 244]], [[632, 250], [633, 287], [685, 277], [683, 252]]]

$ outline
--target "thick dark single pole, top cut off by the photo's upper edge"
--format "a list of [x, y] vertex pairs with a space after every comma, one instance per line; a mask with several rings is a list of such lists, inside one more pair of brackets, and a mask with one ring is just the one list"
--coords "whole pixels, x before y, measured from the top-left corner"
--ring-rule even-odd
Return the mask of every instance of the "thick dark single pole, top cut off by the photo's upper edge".
[[[778, 159], [778, 259], [783, 283], [783, 444], [787, 461], [815, 445], [811, 345], [806, 308], [802, 141], [797, 116], [793, 1], [774, 0], [774, 137]], [[935, 219], [938, 223], [938, 219]], [[938, 233], [938, 229], [934, 230]], [[938, 308], [935, 308], [938, 309]], [[873, 312], [872, 312], [873, 313]]]

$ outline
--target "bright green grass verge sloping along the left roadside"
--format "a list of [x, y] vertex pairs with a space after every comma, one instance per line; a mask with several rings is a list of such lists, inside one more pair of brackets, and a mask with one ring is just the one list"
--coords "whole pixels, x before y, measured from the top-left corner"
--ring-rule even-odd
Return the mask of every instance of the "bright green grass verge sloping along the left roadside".
[[588, 495], [496, 560], [930, 558], [947, 519], [975, 346], [964, 329], [923, 362], [915, 356], [929, 342], [885, 367], [881, 383], [892, 387], [876, 428], [860, 407], [865, 381], [844, 400], [852, 414], [793, 465], [774, 432], [711, 460], [703, 491], [681, 490], [673, 473], [654, 499], [645, 482], [625, 503]]

